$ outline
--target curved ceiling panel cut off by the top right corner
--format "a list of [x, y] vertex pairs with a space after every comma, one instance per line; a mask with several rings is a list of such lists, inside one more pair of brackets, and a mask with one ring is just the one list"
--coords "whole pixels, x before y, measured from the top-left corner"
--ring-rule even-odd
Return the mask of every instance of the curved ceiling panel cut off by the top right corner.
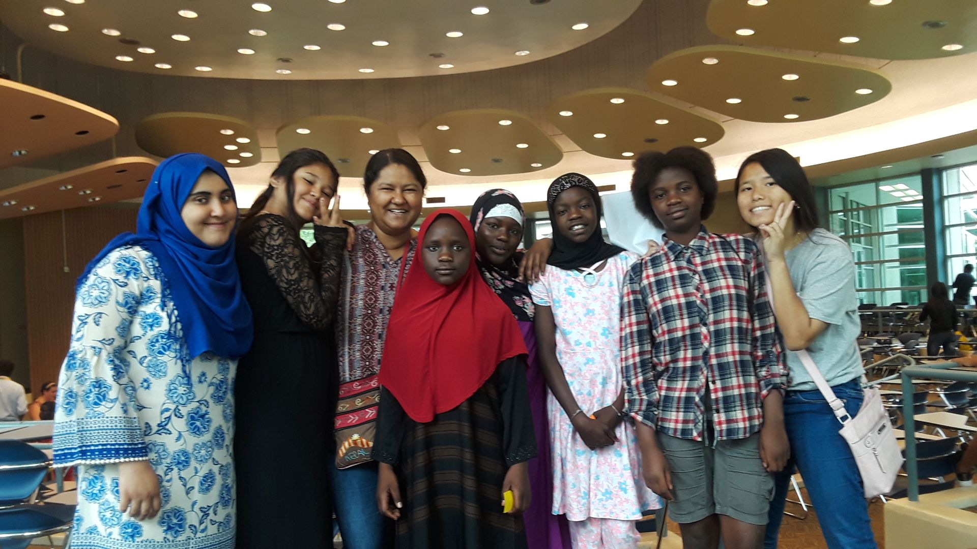
[[913, 60], [977, 51], [970, 0], [712, 0], [709, 30], [740, 44]]

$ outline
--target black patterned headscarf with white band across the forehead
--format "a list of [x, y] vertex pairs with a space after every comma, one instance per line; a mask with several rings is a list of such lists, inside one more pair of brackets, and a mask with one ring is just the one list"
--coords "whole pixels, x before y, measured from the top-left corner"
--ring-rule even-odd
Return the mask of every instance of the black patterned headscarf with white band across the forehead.
[[[478, 234], [482, 222], [489, 217], [508, 217], [515, 220], [526, 231], [526, 214], [523, 204], [516, 195], [504, 189], [486, 190], [472, 205], [472, 215], [468, 221]], [[494, 291], [512, 312], [517, 320], [531, 322], [535, 307], [530, 297], [530, 287], [519, 279], [519, 262], [523, 252], [517, 251], [502, 266], [494, 266], [479, 253], [475, 253], [475, 263], [482, 272], [488, 287]]]

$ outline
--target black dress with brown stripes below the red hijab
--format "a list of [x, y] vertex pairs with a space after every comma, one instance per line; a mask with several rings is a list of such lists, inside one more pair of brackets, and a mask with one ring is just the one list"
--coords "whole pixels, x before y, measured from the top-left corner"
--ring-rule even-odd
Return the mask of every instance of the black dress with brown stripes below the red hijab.
[[500, 363], [467, 401], [428, 423], [383, 390], [373, 459], [397, 471], [397, 549], [526, 549], [522, 517], [502, 513], [502, 482], [536, 455], [527, 402], [522, 358]]

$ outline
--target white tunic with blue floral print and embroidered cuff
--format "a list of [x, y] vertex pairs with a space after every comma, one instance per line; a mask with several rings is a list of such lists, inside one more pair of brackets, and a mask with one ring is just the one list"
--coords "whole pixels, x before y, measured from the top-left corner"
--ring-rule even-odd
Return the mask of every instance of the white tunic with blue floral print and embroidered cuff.
[[[110, 252], [78, 288], [58, 380], [57, 466], [78, 466], [72, 549], [234, 548], [237, 362], [188, 356], [156, 258]], [[119, 512], [123, 461], [149, 460], [162, 509]]]

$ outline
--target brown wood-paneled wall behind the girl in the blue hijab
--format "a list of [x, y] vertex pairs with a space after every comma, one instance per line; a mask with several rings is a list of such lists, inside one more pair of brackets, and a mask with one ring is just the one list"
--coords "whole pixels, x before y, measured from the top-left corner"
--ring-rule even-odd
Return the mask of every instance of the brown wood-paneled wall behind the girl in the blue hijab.
[[23, 218], [31, 385], [58, 379], [67, 353], [75, 280], [108, 240], [136, 230], [138, 212], [132, 206], [103, 206]]

